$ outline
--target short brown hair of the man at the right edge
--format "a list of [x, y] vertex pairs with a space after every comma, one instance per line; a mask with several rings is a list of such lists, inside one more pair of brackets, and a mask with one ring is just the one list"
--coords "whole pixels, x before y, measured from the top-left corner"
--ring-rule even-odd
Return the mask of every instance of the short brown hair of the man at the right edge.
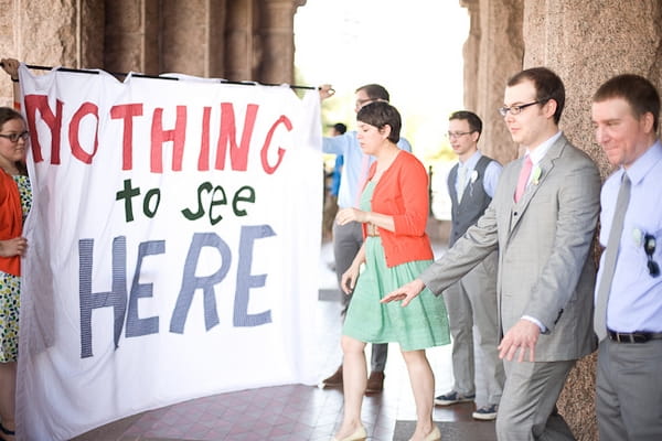
[[637, 118], [651, 112], [653, 115], [653, 131], [658, 132], [660, 94], [647, 78], [634, 74], [617, 75], [598, 88], [592, 100], [594, 103], [600, 103], [611, 98], [622, 98], [628, 101]]

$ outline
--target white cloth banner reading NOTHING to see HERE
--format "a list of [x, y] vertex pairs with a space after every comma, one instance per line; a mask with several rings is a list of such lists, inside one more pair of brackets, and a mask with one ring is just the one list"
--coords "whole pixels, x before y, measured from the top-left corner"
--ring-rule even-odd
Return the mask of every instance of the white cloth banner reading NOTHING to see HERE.
[[33, 190], [20, 438], [313, 384], [317, 92], [24, 65], [20, 79]]

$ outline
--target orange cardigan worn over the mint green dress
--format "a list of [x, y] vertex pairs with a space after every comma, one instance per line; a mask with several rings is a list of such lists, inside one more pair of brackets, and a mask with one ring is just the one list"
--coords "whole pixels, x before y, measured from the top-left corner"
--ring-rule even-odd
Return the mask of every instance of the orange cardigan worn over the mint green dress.
[[[369, 180], [377, 164], [372, 164]], [[393, 216], [395, 232], [377, 228], [384, 246], [386, 266], [393, 268], [415, 260], [434, 259], [430, 239], [425, 233], [428, 218], [428, 175], [412, 153], [401, 150], [375, 185], [372, 211]], [[363, 237], [367, 226], [363, 224]]]

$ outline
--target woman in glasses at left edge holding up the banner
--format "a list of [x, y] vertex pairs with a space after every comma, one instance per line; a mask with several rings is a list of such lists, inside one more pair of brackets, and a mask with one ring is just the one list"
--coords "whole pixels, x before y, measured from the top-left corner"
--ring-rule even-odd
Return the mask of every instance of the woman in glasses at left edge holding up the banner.
[[[18, 82], [19, 62], [1, 61]], [[14, 87], [17, 94], [18, 87]], [[14, 96], [14, 99], [18, 95]], [[28, 249], [23, 222], [32, 204], [25, 152], [29, 133], [21, 114], [0, 107], [0, 439], [14, 439], [19, 353], [21, 257]]]

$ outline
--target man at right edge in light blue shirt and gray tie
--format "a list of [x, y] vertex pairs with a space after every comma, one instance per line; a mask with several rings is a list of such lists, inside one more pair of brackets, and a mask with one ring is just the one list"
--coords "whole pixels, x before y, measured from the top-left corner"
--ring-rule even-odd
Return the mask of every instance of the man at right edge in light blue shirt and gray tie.
[[599, 437], [662, 440], [660, 95], [648, 79], [627, 74], [602, 84], [592, 101], [596, 139], [618, 166], [600, 195], [606, 250], [594, 318]]

